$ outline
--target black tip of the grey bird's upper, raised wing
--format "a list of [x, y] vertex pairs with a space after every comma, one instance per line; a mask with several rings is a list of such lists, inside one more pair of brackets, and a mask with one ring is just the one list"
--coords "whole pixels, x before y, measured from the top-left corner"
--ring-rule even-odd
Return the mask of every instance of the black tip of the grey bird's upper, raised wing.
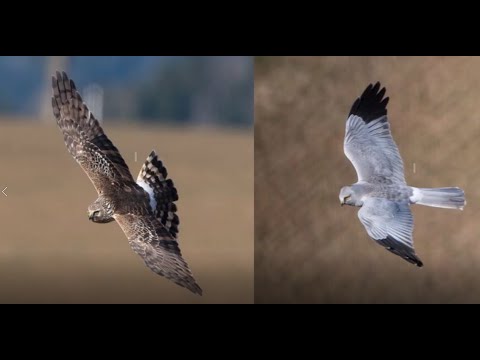
[[348, 115], [357, 115], [366, 123], [387, 115], [389, 98], [383, 98], [387, 90], [385, 87], [381, 89], [380, 87], [378, 81], [375, 85], [368, 85], [362, 95], [355, 100]]

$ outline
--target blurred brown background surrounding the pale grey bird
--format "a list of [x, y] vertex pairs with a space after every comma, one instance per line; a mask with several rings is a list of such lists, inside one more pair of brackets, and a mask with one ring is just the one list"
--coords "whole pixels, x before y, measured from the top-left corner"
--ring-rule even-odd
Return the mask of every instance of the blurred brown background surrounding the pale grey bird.
[[[358, 209], [339, 205], [357, 181], [346, 117], [377, 80], [407, 183], [466, 193], [463, 212], [412, 207], [423, 268], [375, 244]], [[480, 302], [479, 108], [478, 57], [256, 58], [256, 302]]]

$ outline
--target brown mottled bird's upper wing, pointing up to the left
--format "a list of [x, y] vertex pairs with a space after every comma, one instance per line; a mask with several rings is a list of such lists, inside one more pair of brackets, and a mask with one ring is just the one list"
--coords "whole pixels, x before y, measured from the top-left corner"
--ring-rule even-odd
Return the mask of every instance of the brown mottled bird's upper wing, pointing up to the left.
[[70, 154], [86, 172], [98, 193], [107, 186], [133, 182], [118, 149], [104, 134], [83, 102], [75, 83], [64, 72], [52, 77], [52, 107]]

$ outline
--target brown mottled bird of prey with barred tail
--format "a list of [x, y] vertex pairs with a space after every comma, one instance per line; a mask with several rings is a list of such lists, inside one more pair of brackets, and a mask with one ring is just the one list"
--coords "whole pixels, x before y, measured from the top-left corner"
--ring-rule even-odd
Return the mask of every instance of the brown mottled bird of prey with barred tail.
[[177, 242], [177, 190], [155, 151], [135, 181], [65, 72], [52, 77], [52, 87], [53, 114], [67, 149], [98, 192], [88, 207], [89, 219], [96, 223], [115, 220], [153, 272], [201, 295]]

